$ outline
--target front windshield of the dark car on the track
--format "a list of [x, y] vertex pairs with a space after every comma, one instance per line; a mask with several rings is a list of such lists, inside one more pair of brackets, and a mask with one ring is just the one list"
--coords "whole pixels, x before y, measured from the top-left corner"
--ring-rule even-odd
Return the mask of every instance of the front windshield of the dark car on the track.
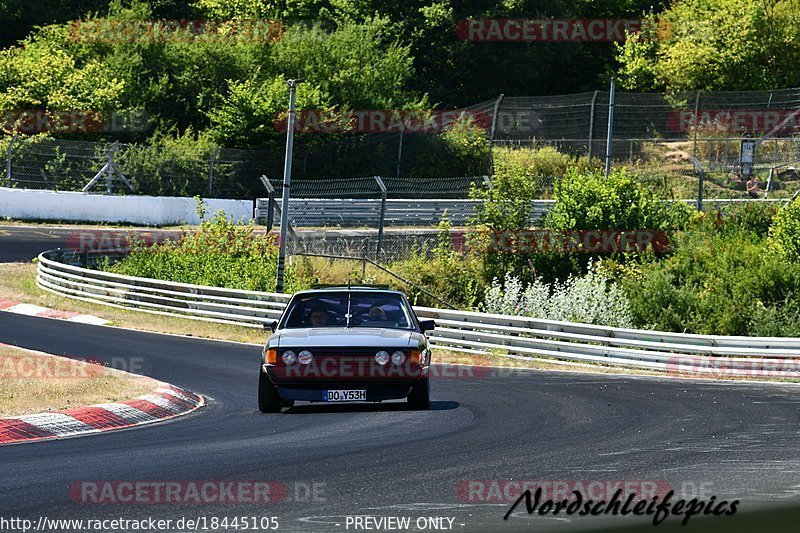
[[413, 321], [397, 294], [328, 293], [296, 298], [283, 327], [411, 329]]

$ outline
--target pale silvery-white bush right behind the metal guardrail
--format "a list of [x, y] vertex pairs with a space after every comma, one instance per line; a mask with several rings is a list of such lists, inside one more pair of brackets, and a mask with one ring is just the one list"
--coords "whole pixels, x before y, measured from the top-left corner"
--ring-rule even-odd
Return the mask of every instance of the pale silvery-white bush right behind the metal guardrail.
[[504, 284], [495, 279], [486, 290], [482, 309], [487, 313], [604, 326], [633, 324], [622, 289], [592, 267], [585, 276], [570, 276], [564, 283], [548, 284], [537, 279], [524, 289], [518, 278], [507, 274]]

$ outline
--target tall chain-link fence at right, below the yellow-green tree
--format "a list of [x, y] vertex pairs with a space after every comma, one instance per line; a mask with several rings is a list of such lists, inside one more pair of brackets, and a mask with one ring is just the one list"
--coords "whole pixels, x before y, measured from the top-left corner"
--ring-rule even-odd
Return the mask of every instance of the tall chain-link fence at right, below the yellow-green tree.
[[[616, 92], [611, 159], [643, 180], [662, 183], [675, 197], [697, 194], [700, 171], [706, 196], [746, 194], [748, 177], [768, 194], [800, 188], [800, 89], [697, 91], [675, 95]], [[610, 92], [504, 97], [498, 106], [496, 146], [554, 146], [603, 159], [608, 146]], [[743, 164], [743, 141], [755, 141]]]

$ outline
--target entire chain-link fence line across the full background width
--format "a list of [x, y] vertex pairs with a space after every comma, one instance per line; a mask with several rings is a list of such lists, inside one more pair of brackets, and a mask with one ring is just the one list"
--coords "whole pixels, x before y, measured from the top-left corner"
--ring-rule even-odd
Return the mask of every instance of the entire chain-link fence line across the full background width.
[[[405, 125], [337, 134], [301, 129], [293, 175], [310, 188], [296, 185], [293, 195], [374, 198], [370, 176], [381, 176], [390, 199], [467, 198], [480, 176], [493, 173], [491, 147], [553, 146], [602, 160], [611, 104], [606, 91], [499, 96], [450, 113], [470, 117], [479, 132], [471, 137], [447, 127], [406, 131]], [[701, 171], [707, 198], [746, 196], [751, 175], [774, 197], [800, 189], [800, 89], [670, 96], [617, 91], [613, 109], [612, 164], [633, 169], [665, 197], [694, 198]], [[743, 164], [747, 140], [756, 143], [752, 163]], [[92, 192], [254, 198], [264, 196], [260, 176], [282, 175], [283, 153], [201, 142], [114, 146], [6, 136], [0, 137], [0, 164], [0, 183], [8, 187], [81, 190], [96, 178]], [[552, 193], [556, 177], [537, 177], [546, 185], [543, 197]]]

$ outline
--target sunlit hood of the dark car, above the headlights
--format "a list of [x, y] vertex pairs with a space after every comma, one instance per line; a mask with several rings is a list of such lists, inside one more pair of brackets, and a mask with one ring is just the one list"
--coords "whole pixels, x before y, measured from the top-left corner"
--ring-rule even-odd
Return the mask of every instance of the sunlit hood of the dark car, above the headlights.
[[408, 348], [425, 345], [417, 331], [379, 328], [297, 328], [278, 331], [269, 338], [269, 348]]

